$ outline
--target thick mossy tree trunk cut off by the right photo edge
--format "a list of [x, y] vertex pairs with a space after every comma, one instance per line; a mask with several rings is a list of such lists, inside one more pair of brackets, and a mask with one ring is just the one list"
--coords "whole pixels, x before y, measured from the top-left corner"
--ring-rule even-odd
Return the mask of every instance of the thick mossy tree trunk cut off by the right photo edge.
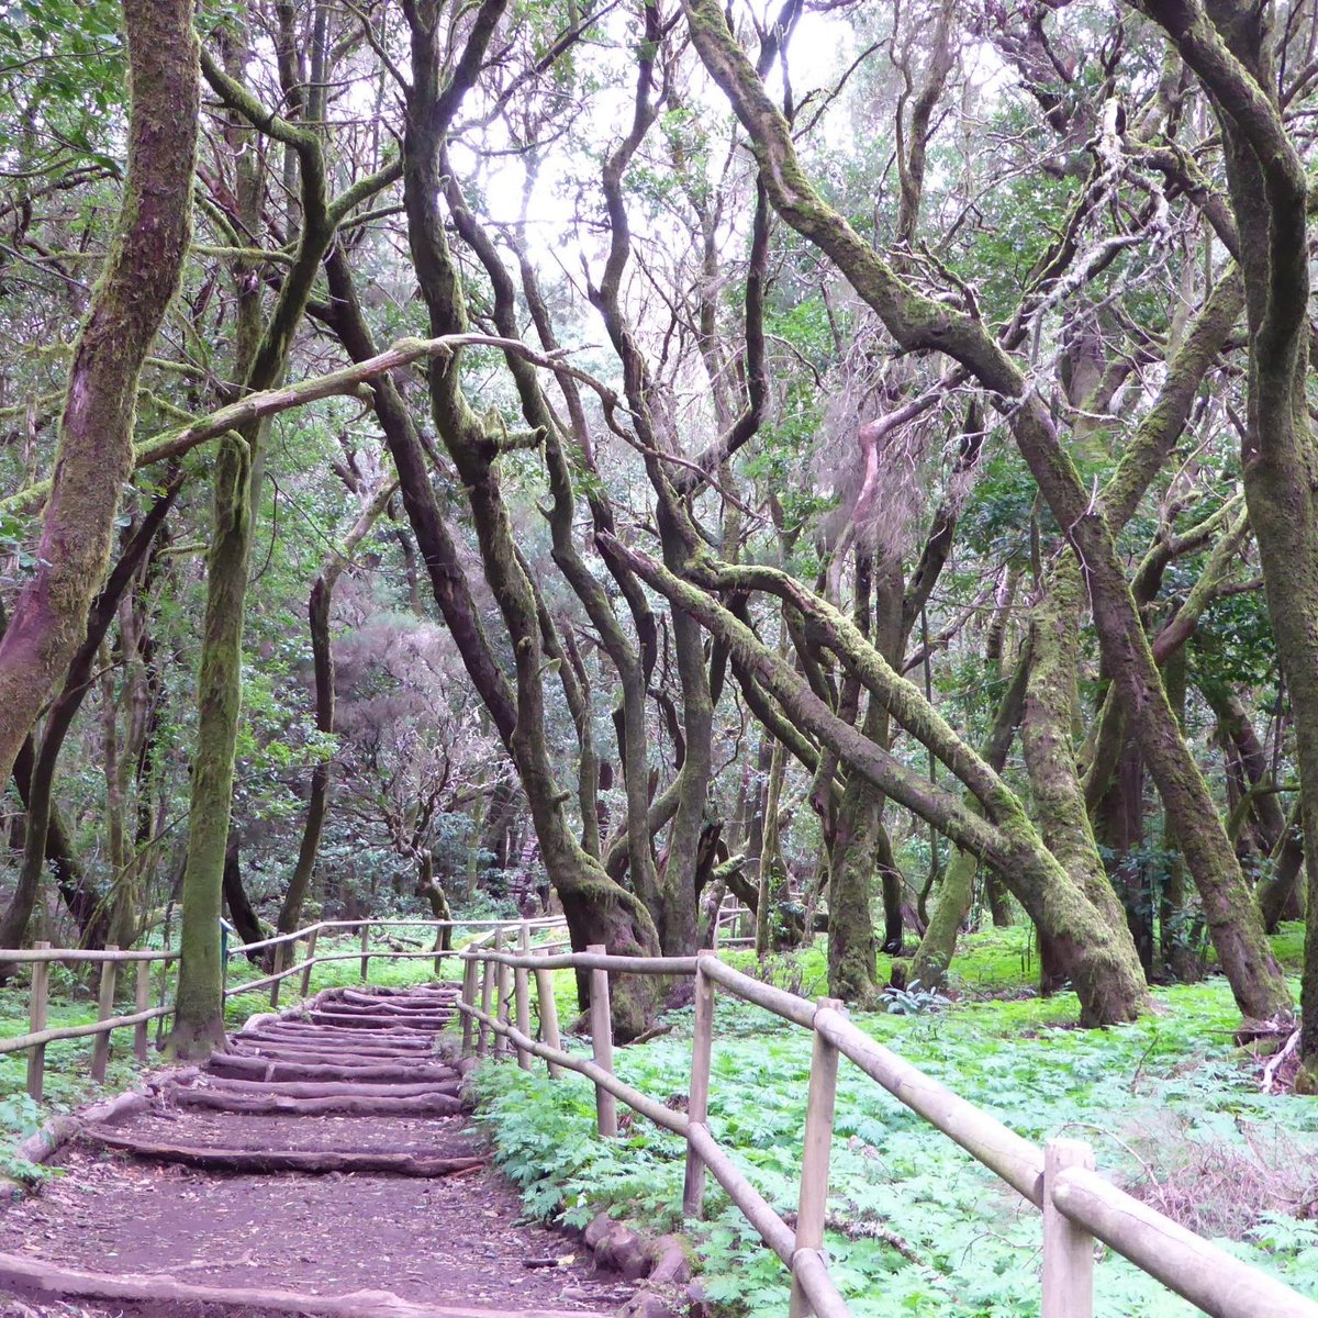
[[[1309, 420], [1309, 182], [1276, 100], [1271, 8], [1239, 0], [1149, 0], [1209, 91], [1222, 127], [1249, 327], [1248, 411], [1242, 468], [1268, 613], [1290, 692], [1300, 760], [1305, 853], [1318, 855], [1318, 447]], [[1185, 845], [1177, 821], [1177, 836]], [[1310, 859], [1309, 909], [1318, 898]], [[1207, 905], [1207, 903], [1205, 903]], [[1209, 912], [1210, 921], [1214, 912]], [[1288, 1002], [1271, 1012], [1284, 1016]], [[1305, 940], [1301, 1061], [1318, 1083], [1318, 920]]]

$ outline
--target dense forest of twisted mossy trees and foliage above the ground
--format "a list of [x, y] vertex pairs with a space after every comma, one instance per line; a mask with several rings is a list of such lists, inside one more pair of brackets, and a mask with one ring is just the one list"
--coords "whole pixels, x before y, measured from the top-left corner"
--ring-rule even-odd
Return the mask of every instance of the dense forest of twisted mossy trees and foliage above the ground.
[[178, 908], [188, 1056], [225, 903], [687, 954], [731, 894], [849, 1002], [1024, 920], [1085, 1024], [1211, 962], [1292, 1028], [1311, 5], [21, 0], [0, 47], [0, 946]]

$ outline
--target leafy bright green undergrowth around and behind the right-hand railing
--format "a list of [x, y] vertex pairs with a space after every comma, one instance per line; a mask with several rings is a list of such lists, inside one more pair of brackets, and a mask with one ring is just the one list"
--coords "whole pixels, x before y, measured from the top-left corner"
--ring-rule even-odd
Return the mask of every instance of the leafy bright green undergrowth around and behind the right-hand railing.
[[[1318, 1104], [1259, 1093], [1235, 1049], [1239, 1015], [1226, 982], [1160, 988], [1156, 1011], [1137, 1024], [1079, 1031], [1073, 995], [1024, 996], [1023, 950], [1019, 931], [971, 938], [948, 1010], [857, 1023], [1027, 1139], [1089, 1140], [1119, 1185], [1318, 1296], [1318, 1222], [1306, 1217], [1318, 1202]], [[1285, 940], [1278, 950], [1293, 965]], [[817, 949], [771, 969], [788, 987], [822, 992], [812, 981]], [[680, 1106], [691, 1011], [670, 1019], [670, 1033], [617, 1049], [614, 1060], [621, 1078]], [[796, 1207], [809, 1060], [804, 1031], [720, 996], [710, 1128], [779, 1213]], [[680, 1139], [635, 1118], [619, 1139], [598, 1140], [581, 1077], [550, 1082], [539, 1070], [488, 1065], [476, 1085], [498, 1161], [530, 1215], [580, 1226], [605, 1207], [648, 1230], [679, 1226]], [[710, 1300], [728, 1314], [784, 1313], [782, 1265], [713, 1181], [706, 1202], [706, 1220], [688, 1230]], [[1039, 1311], [1039, 1214], [845, 1061], [829, 1211], [830, 1269], [857, 1318]], [[1107, 1251], [1097, 1296], [1097, 1311], [1111, 1318], [1195, 1311]]]

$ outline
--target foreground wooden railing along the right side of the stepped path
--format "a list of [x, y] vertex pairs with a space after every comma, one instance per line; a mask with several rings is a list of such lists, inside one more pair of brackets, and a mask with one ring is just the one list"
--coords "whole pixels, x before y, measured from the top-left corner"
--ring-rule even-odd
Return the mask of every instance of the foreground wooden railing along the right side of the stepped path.
[[[791, 1272], [791, 1318], [849, 1318], [824, 1255], [829, 1153], [838, 1058], [846, 1057], [894, 1098], [960, 1144], [1043, 1211], [1043, 1315], [1090, 1318], [1094, 1310], [1094, 1242], [1102, 1240], [1137, 1268], [1214, 1318], [1318, 1318], [1318, 1304], [1234, 1259], [1110, 1185], [1094, 1170], [1094, 1155], [1078, 1140], [1053, 1139], [1039, 1148], [996, 1118], [925, 1075], [858, 1029], [829, 998], [807, 1002], [724, 965], [717, 954], [699, 957], [612, 957], [602, 946], [585, 953], [529, 956], [498, 948], [471, 948], [463, 999], [464, 1050], [515, 1052], [523, 1068], [543, 1058], [551, 1074], [572, 1070], [594, 1082], [600, 1135], [617, 1133], [617, 1101], [687, 1141], [683, 1211], [704, 1210], [705, 1174], [712, 1173], [760, 1239]], [[565, 1052], [550, 970], [590, 973], [592, 1057]], [[529, 977], [534, 974], [542, 1039], [531, 1036]], [[673, 1111], [613, 1073], [609, 1029], [609, 975], [695, 975], [696, 1019], [687, 1111]], [[497, 983], [496, 983], [497, 981]], [[718, 1144], [708, 1124], [714, 992], [722, 988], [813, 1033], [809, 1091], [795, 1227], [789, 1226]], [[494, 1007], [494, 995], [498, 1006]], [[515, 1021], [515, 1024], [513, 1023]], [[476, 1035], [473, 1040], [473, 1035]]]

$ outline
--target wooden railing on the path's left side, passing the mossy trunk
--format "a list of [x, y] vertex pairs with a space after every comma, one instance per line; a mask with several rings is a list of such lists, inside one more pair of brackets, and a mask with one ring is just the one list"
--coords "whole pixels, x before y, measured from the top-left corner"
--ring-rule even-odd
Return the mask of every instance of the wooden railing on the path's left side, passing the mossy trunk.
[[[260, 979], [246, 983], [227, 985], [224, 996], [232, 998], [236, 994], [253, 992], [261, 988], [270, 990], [270, 1006], [279, 1004], [279, 986], [290, 975], [302, 975], [302, 996], [307, 996], [311, 990], [311, 971], [331, 961], [361, 961], [361, 978], [365, 982], [370, 961], [373, 958], [402, 961], [409, 958], [439, 960], [442, 957], [455, 957], [456, 950], [449, 952], [398, 952], [394, 949], [370, 949], [370, 931], [376, 928], [413, 928], [413, 929], [492, 929], [493, 933], [482, 938], [500, 937], [505, 931], [526, 931], [527, 940], [532, 931], [558, 929], [564, 925], [561, 916], [544, 920], [322, 920], [307, 925], [294, 933], [279, 934], [274, 938], [262, 938], [260, 942], [235, 945], [227, 949], [224, 958], [225, 981], [228, 978], [228, 961], [231, 957], [246, 952], [258, 952], [265, 948], [275, 948], [275, 971]], [[316, 940], [324, 931], [360, 929], [360, 952], [322, 953], [316, 956]], [[291, 960], [295, 944], [306, 940], [307, 949], [304, 960], [283, 965], [285, 960]], [[80, 948], [51, 948], [49, 942], [37, 942], [32, 948], [5, 948], [0, 949], [0, 965], [30, 965], [32, 987], [28, 1004], [28, 1033], [16, 1035], [11, 1039], [0, 1039], [0, 1056], [5, 1053], [28, 1053], [28, 1093], [41, 1101], [45, 1089], [46, 1045], [63, 1039], [95, 1037], [91, 1054], [91, 1075], [95, 1081], [104, 1081], [105, 1066], [109, 1061], [111, 1035], [116, 1029], [133, 1029], [133, 1052], [140, 1062], [146, 1062], [149, 1054], [149, 1039], [146, 1027], [153, 1020], [159, 1020], [173, 1015], [174, 1007], [167, 1002], [169, 986], [162, 974], [158, 988], [158, 1004], [152, 1006], [152, 966], [162, 969], [178, 961], [178, 952], [158, 952], [153, 949], [123, 950], [108, 946], [104, 950], [88, 952]], [[55, 1025], [47, 1027], [49, 995], [50, 995], [50, 966], [53, 963], [76, 965], [95, 962], [100, 965], [100, 987], [98, 991], [96, 1020], [84, 1025]], [[119, 990], [119, 967], [134, 965], [134, 1011], [129, 1015], [115, 1015], [115, 998]]]

